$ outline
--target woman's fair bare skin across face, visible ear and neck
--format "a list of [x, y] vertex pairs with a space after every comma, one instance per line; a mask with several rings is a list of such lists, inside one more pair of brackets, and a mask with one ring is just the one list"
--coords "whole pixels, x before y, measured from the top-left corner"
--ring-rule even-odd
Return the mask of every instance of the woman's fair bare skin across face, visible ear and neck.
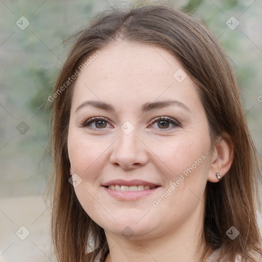
[[[105, 231], [110, 247], [106, 262], [200, 260], [205, 246], [201, 235], [206, 183], [219, 182], [215, 172], [223, 177], [228, 171], [232, 148], [224, 139], [211, 145], [196, 86], [189, 76], [181, 83], [173, 77], [181, 68], [164, 49], [119, 40], [103, 48], [76, 81], [68, 152], [72, 173], [82, 180], [75, 187], [77, 198]], [[188, 110], [169, 105], [141, 111], [144, 103], [170, 99]], [[76, 111], [88, 100], [111, 104], [115, 112], [92, 105]], [[152, 123], [165, 116], [180, 125]], [[110, 123], [82, 127], [91, 117], [106, 117]], [[135, 128], [129, 135], [121, 129], [126, 121]], [[162, 203], [153, 206], [201, 156], [205, 160]], [[138, 200], [118, 200], [102, 187], [114, 179], [140, 179], [160, 187]], [[127, 226], [133, 234], [129, 238], [121, 233]]]

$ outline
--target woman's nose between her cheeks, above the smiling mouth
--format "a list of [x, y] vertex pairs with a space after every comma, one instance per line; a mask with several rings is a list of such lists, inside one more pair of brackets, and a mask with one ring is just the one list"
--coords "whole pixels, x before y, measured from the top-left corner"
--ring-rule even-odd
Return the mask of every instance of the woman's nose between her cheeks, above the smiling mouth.
[[124, 169], [136, 169], [148, 163], [148, 152], [144, 143], [136, 136], [135, 130], [126, 135], [122, 130], [113, 144], [110, 162]]

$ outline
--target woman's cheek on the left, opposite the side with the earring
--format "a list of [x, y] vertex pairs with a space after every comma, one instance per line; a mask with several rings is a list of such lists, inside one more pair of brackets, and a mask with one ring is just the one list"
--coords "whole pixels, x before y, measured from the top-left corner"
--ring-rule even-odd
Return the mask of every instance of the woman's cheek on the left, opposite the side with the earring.
[[96, 222], [104, 213], [97, 192], [100, 186], [100, 176], [106, 162], [106, 149], [110, 146], [109, 141], [91, 139], [86, 134], [78, 134], [74, 128], [69, 131], [68, 154], [71, 168], [81, 182], [74, 187], [77, 199], [86, 213]]

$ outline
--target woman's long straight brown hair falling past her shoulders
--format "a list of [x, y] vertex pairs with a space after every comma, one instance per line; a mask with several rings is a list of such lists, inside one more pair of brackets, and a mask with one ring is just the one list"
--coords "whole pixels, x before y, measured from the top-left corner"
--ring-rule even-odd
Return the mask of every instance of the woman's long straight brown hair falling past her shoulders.
[[[67, 139], [74, 82], [67, 81], [88, 57], [118, 39], [171, 52], [198, 86], [211, 141], [224, 133], [229, 135], [234, 160], [220, 183], [207, 183], [203, 239], [207, 248], [220, 248], [217, 261], [231, 262], [238, 254], [243, 262], [256, 262], [251, 254], [262, 254], [256, 221], [261, 165], [248, 131], [233, 70], [209, 30], [169, 4], [147, 4], [101, 13], [88, 28], [79, 32], [60, 71], [52, 95], [51, 140], [54, 157], [51, 226], [58, 261], [94, 262], [98, 252], [104, 261], [109, 252], [103, 229], [82, 209], [69, 183]], [[226, 234], [232, 226], [240, 232], [233, 241]], [[86, 253], [91, 249], [93, 256], [87, 258]]]

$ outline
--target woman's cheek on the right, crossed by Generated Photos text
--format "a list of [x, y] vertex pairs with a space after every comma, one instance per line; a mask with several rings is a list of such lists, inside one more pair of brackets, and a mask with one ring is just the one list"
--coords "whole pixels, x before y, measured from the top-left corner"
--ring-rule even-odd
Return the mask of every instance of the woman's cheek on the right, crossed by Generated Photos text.
[[[164, 192], [154, 199], [156, 219], [160, 214], [167, 214], [165, 220], [169, 225], [183, 223], [198, 206], [204, 202], [204, 191], [209, 169], [209, 140], [194, 138], [178, 139], [168, 147], [158, 150], [165, 165], [159, 163], [159, 169], [167, 183]], [[164, 171], [165, 170], [165, 171]], [[202, 201], [202, 202], [201, 202]], [[167, 212], [168, 210], [168, 212]]]

